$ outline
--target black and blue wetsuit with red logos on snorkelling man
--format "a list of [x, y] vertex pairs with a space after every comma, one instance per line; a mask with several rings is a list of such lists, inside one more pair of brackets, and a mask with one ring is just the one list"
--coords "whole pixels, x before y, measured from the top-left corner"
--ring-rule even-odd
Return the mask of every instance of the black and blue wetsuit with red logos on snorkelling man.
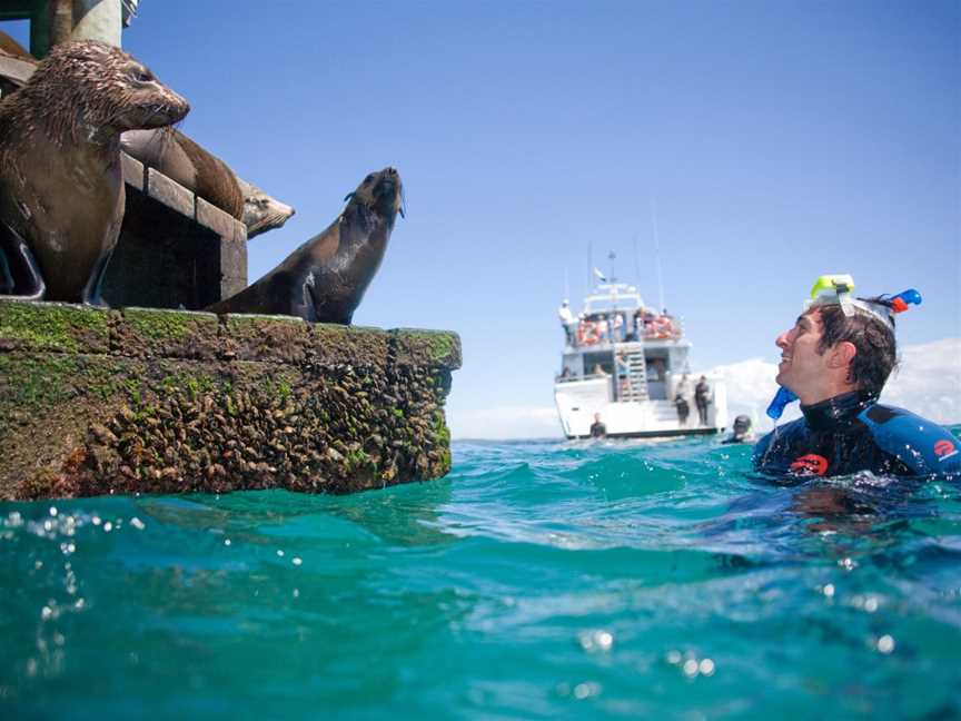
[[772, 475], [951, 474], [961, 480], [959, 441], [950, 432], [873, 396], [843, 395], [801, 406], [803, 418], [754, 446], [754, 467]]

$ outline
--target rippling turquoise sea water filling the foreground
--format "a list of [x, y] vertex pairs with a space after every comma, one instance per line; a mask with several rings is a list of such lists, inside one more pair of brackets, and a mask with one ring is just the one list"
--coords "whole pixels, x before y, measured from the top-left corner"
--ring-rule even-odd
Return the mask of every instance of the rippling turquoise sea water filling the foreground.
[[771, 486], [714, 439], [7, 503], [0, 552], [2, 718], [961, 714], [959, 484]]

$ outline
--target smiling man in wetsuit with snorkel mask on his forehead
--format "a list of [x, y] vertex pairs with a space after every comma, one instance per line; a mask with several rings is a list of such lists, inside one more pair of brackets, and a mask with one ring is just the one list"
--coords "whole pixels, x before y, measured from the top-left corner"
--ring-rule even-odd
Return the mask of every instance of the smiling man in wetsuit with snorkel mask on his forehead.
[[961, 478], [959, 441], [913, 413], [878, 397], [896, 363], [894, 316], [920, 305], [914, 289], [855, 298], [849, 275], [821, 276], [794, 327], [777, 336], [774, 419], [801, 401], [804, 417], [764, 436], [754, 467], [777, 475], [885, 475]]

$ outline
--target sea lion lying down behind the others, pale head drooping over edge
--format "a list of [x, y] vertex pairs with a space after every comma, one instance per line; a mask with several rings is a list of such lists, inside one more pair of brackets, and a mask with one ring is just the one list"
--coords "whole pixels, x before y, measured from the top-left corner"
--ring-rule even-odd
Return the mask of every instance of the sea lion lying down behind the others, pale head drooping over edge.
[[174, 128], [130, 130], [120, 148], [247, 226], [247, 238], [283, 226], [294, 208], [238, 178], [226, 162]]

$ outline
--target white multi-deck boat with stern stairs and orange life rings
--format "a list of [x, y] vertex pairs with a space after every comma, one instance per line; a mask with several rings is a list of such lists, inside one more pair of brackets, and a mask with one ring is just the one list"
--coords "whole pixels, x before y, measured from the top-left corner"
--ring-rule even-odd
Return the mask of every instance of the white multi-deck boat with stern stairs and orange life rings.
[[[598, 285], [565, 335], [554, 402], [568, 438], [590, 437], [595, 414], [607, 437], [709, 434], [726, 427], [724, 379], [691, 373], [691, 343], [680, 320], [645, 307], [633, 286]], [[702, 375], [710, 389], [705, 424], [694, 399]], [[681, 419], [678, 395], [688, 407], [686, 422]]]

